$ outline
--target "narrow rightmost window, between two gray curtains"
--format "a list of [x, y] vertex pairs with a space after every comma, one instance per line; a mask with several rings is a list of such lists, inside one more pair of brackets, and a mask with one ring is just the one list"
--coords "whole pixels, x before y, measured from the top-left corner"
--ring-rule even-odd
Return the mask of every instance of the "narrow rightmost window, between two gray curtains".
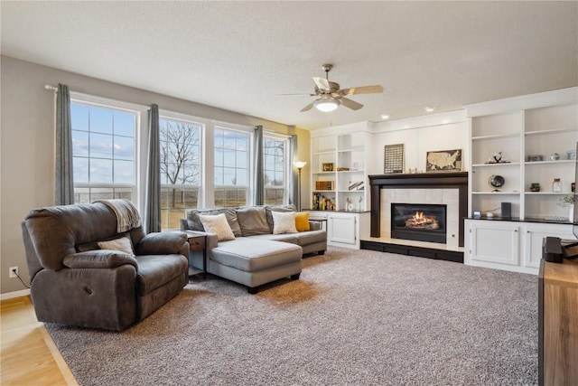
[[287, 140], [265, 137], [263, 140], [263, 164], [266, 205], [280, 205], [287, 196]]

